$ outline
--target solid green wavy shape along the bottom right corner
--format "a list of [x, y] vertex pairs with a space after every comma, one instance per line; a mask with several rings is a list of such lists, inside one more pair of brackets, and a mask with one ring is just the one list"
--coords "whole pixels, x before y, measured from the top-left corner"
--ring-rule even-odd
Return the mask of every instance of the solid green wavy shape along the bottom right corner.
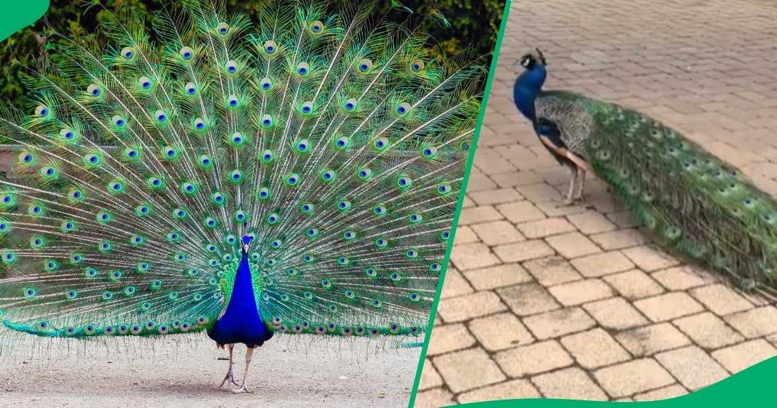
[[772, 385], [777, 380], [777, 357], [755, 364], [723, 381], [692, 394], [660, 401], [635, 403], [578, 401], [573, 399], [504, 399], [469, 403], [462, 408], [766, 408], [777, 406]]

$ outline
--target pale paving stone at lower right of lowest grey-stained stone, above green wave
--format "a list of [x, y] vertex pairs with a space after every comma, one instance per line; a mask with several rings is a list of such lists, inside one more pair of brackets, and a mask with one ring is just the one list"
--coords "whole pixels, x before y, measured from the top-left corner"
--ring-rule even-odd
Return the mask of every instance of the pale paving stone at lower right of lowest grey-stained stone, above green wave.
[[728, 373], [720, 364], [696, 346], [656, 354], [656, 360], [685, 388], [692, 391], [713, 385], [728, 377]]

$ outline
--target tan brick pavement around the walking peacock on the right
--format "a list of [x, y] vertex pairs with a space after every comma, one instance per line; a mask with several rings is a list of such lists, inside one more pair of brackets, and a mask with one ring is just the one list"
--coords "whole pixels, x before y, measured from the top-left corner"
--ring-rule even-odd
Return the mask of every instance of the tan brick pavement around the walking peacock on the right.
[[549, 89], [649, 113], [777, 194], [777, 2], [514, 1], [417, 406], [664, 399], [777, 354], [777, 309], [657, 250], [601, 183], [566, 173], [512, 103]]

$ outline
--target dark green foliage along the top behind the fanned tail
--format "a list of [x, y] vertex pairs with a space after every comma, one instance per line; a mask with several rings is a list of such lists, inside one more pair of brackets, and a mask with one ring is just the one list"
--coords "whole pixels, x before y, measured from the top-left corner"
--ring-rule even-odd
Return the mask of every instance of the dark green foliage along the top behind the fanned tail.
[[[336, 7], [353, 1], [333, 0], [331, 3]], [[256, 23], [256, 11], [266, 1], [225, 0], [225, 3], [228, 10], [245, 12]], [[3, 62], [0, 66], [0, 95], [11, 106], [27, 106], [28, 96], [20, 73], [23, 67], [40, 69], [46, 66], [46, 51], [54, 37], [52, 33], [94, 37], [97, 23], [105, 12], [103, 8], [115, 11], [125, 5], [149, 15], [155, 10], [179, 7], [169, 0], [52, 0], [44, 18], [0, 44], [0, 61]], [[420, 24], [420, 30], [430, 33], [436, 40], [434, 54], [447, 54], [449, 57], [466, 54], [472, 57], [493, 51], [504, 0], [380, 0], [378, 5], [384, 10], [394, 5], [393, 16], [397, 19], [415, 19]], [[402, 11], [402, 6], [413, 10], [413, 15]], [[148, 22], [150, 20], [147, 19]], [[487, 66], [488, 61], [484, 65]]]

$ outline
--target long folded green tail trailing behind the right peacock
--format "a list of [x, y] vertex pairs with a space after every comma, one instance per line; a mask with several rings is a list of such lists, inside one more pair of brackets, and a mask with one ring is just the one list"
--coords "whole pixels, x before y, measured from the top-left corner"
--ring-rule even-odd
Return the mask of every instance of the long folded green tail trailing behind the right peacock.
[[777, 298], [777, 202], [734, 166], [642, 113], [586, 99], [585, 155], [660, 243]]

